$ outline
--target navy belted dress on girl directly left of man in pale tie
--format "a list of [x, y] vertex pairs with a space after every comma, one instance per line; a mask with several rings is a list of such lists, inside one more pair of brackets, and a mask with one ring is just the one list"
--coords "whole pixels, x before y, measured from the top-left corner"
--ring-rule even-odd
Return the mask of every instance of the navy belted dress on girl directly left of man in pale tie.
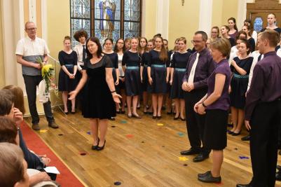
[[172, 99], [184, 99], [184, 90], [181, 89], [182, 79], [186, 71], [186, 64], [189, 61], [191, 53], [174, 53], [171, 62], [171, 68], [174, 69], [172, 78], [171, 95]]

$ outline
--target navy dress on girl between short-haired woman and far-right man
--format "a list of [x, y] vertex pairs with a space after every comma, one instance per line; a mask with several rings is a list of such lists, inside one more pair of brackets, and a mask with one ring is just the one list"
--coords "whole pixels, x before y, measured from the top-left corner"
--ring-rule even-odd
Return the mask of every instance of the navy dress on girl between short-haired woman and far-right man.
[[231, 79], [231, 106], [237, 109], [244, 109], [247, 92], [248, 81], [249, 81], [249, 71], [252, 66], [253, 57], [247, 57], [240, 60], [238, 57], [234, 57], [233, 60], [236, 62], [238, 67], [244, 69], [247, 73], [242, 76], [236, 71], [236, 69], [231, 66], [231, 71], [233, 72], [233, 77]]

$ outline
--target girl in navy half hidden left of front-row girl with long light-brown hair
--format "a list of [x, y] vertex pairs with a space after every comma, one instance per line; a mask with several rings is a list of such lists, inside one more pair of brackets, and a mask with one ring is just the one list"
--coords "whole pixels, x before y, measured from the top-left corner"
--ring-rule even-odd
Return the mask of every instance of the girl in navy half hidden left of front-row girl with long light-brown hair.
[[149, 111], [152, 111], [152, 106], [149, 107], [149, 95], [147, 92], [147, 87], [149, 85], [149, 79], [147, 76], [147, 66], [149, 62], [149, 51], [152, 50], [153, 48], [154, 48], [153, 40], [149, 40], [146, 45], [146, 51], [142, 54], [142, 64], [140, 67], [144, 113], [147, 113], [147, 109], [149, 109]]

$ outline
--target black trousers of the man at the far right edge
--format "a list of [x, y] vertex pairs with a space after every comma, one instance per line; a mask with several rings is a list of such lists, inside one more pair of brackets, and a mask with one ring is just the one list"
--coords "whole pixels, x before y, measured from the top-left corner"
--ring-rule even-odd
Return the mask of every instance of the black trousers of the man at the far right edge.
[[258, 104], [252, 114], [250, 120], [252, 186], [275, 186], [280, 115], [280, 100]]

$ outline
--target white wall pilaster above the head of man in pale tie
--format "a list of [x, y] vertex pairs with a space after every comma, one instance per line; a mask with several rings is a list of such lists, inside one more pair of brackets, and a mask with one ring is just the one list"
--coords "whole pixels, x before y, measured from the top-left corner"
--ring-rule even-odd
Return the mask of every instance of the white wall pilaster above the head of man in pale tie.
[[199, 28], [206, 33], [212, 28], [212, 0], [200, 0]]

